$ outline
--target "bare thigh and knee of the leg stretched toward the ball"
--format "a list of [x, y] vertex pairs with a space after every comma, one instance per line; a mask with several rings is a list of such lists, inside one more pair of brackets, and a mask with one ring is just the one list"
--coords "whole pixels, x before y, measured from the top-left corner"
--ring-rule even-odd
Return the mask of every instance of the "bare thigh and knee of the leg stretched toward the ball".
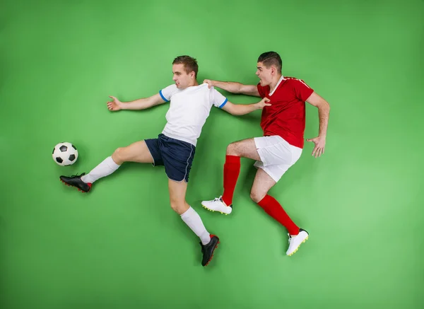
[[136, 141], [126, 147], [117, 148], [112, 159], [118, 165], [124, 162], [153, 163], [153, 157], [145, 141]]

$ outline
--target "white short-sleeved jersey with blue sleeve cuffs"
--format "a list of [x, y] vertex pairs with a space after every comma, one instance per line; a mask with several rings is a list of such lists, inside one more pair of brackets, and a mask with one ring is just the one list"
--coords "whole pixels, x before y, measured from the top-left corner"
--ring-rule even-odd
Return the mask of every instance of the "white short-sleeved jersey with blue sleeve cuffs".
[[186, 141], [196, 146], [212, 105], [222, 108], [228, 99], [215, 88], [208, 88], [207, 83], [178, 89], [175, 84], [159, 91], [165, 101], [170, 101], [170, 109], [166, 113], [167, 124], [163, 134]]

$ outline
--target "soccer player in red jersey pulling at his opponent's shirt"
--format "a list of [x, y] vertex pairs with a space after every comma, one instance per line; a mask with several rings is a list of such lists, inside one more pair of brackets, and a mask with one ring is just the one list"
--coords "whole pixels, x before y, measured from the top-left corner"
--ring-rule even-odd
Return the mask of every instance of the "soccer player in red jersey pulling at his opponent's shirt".
[[236, 82], [205, 80], [209, 87], [222, 88], [231, 93], [242, 93], [269, 98], [262, 110], [261, 128], [264, 136], [236, 141], [228, 145], [224, 164], [224, 192], [219, 198], [201, 204], [211, 211], [231, 214], [232, 197], [240, 173], [240, 157], [256, 160], [257, 174], [250, 197], [269, 216], [281, 223], [288, 231], [287, 255], [293, 255], [309, 234], [299, 228], [284, 211], [281, 204], [268, 192], [281, 179], [285, 171], [298, 161], [304, 146], [305, 102], [318, 108], [319, 134], [314, 139], [312, 156], [322, 156], [326, 143], [329, 121], [329, 103], [298, 78], [281, 74], [281, 57], [276, 52], [265, 52], [257, 61], [257, 85]]

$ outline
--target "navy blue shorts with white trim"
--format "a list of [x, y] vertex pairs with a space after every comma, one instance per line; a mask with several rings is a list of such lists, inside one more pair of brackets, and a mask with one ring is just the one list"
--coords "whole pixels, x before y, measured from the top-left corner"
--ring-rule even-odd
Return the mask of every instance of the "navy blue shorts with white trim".
[[157, 139], [145, 139], [153, 157], [153, 165], [164, 165], [170, 180], [189, 182], [196, 147], [186, 141], [159, 134]]

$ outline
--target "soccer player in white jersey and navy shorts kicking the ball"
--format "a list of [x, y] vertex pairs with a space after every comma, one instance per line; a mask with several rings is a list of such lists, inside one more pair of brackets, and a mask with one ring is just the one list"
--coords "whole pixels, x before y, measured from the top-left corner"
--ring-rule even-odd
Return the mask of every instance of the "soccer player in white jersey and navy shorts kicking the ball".
[[199, 214], [186, 202], [187, 182], [192, 167], [196, 142], [201, 129], [209, 116], [212, 105], [232, 115], [245, 115], [254, 110], [269, 106], [268, 99], [249, 105], [235, 105], [207, 83], [199, 85], [196, 81], [198, 65], [196, 59], [179, 56], [172, 62], [174, 84], [163, 88], [150, 98], [141, 98], [128, 103], [117, 98], [107, 103], [111, 111], [144, 110], [158, 104], [170, 102], [167, 111], [167, 124], [157, 139], [136, 141], [129, 146], [117, 148], [112, 156], [105, 158], [86, 175], [60, 176], [66, 185], [89, 192], [93, 182], [112, 174], [124, 162], [152, 163], [164, 165], [168, 177], [170, 204], [182, 220], [200, 238], [203, 258], [201, 264], [206, 266], [213, 257], [213, 251], [219, 243], [216, 235], [210, 234]]

